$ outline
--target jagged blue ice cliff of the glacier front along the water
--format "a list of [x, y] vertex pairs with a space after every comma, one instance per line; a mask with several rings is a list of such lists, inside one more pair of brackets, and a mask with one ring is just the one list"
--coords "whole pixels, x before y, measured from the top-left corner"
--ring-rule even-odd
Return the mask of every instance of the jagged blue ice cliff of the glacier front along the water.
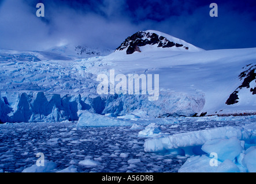
[[[1, 94], [0, 94], [1, 95]], [[116, 116], [192, 116], [205, 104], [203, 95], [161, 93], [158, 101], [147, 95], [48, 94], [25, 91], [6, 92], [0, 96], [0, 122], [78, 121], [79, 110]]]

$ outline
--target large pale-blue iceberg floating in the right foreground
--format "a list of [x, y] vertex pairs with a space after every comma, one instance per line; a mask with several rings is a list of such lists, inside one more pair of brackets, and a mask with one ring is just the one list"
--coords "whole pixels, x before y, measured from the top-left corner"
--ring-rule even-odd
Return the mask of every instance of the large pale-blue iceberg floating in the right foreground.
[[146, 139], [144, 151], [189, 157], [180, 173], [256, 172], [255, 133], [250, 124], [162, 135]]

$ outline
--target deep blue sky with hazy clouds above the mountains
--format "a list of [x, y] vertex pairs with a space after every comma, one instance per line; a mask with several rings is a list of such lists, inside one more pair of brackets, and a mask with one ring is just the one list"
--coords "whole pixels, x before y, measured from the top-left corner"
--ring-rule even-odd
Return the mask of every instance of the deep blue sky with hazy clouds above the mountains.
[[[44, 16], [37, 17], [37, 3]], [[218, 17], [210, 17], [217, 3]], [[256, 1], [0, 0], [0, 48], [43, 51], [65, 44], [116, 49], [133, 33], [159, 30], [197, 47], [256, 47]]]

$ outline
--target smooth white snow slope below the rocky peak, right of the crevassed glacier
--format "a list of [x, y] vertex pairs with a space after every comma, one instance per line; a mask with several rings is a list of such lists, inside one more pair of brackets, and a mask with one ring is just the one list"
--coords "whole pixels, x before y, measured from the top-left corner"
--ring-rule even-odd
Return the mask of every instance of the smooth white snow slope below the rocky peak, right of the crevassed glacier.
[[[227, 105], [229, 95], [243, 81], [239, 75], [248, 64], [255, 65], [256, 48], [223, 49], [201, 52], [149, 51], [124, 56], [112, 53], [105, 60], [115, 63], [116, 72], [123, 74], [159, 74], [159, 87], [164, 91], [184, 93], [188, 96], [203, 96], [205, 104], [196, 113], [232, 114], [254, 112], [256, 98], [250, 89], [255, 87], [255, 78], [250, 88], [239, 92], [238, 104]], [[117, 73], [118, 73], [117, 72]]]

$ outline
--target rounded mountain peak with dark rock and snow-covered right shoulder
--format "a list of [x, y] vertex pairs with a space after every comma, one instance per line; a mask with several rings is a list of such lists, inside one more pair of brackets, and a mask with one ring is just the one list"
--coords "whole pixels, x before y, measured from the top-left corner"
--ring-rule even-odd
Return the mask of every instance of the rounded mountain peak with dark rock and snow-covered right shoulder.
[[[195, 47], [184, 40], [177, 39], [169, 34], [157, 30], [139, 31], [129, 36], [116, 49], [116, 51], [126, 50], [127, 54], [141, 52], [139, 47], [151, 45], [154, 48], [172, 48], [173, 51], [202, 51], [203, 49]], [[175, 48], [175, 49], [174, 49]]]

